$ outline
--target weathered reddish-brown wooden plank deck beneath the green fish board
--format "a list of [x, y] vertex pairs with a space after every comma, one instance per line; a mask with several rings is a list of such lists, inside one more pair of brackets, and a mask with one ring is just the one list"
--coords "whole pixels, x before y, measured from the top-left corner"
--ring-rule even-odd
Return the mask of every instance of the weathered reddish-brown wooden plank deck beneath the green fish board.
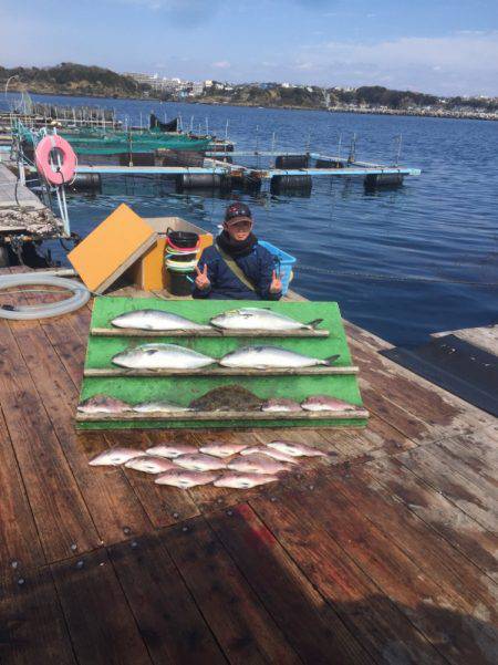
[[[2, 665], [497, 662], [496, 418], [346, 324], [365, 430], [76, 433], [90, 314], [0, 319]], [[276, 436], [330, 456], [248, 491], [87, 465]]]

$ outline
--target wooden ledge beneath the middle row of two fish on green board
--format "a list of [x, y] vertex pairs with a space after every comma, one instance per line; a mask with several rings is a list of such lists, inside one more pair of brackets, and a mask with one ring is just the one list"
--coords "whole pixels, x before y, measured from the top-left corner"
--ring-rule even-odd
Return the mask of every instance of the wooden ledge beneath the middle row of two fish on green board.
[[249, 370], [248, 367], [201, 367], [200, 370], [126, 370], [124, 367], [85, 367], [84, 376], [308, 376], [313, 374], [357, 374], [359, 368], [351, 367], [300, 367], [291, 370], [272, 367], [270, 370]]

